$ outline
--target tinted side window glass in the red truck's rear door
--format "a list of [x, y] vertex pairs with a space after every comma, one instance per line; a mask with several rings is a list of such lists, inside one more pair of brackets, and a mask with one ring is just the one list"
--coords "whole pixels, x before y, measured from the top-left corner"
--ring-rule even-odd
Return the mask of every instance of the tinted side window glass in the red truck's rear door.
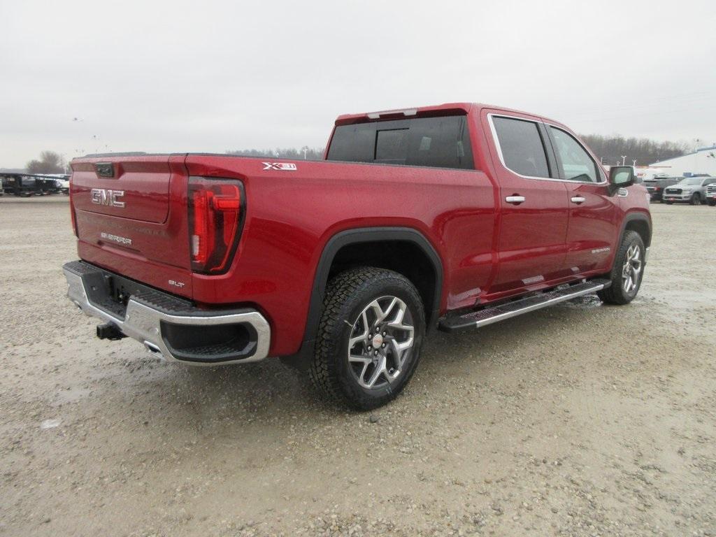
[[544, 142], [536, 122], [493, 116], [503, 164], [526, 177], [548, 178], [549, 166]]

